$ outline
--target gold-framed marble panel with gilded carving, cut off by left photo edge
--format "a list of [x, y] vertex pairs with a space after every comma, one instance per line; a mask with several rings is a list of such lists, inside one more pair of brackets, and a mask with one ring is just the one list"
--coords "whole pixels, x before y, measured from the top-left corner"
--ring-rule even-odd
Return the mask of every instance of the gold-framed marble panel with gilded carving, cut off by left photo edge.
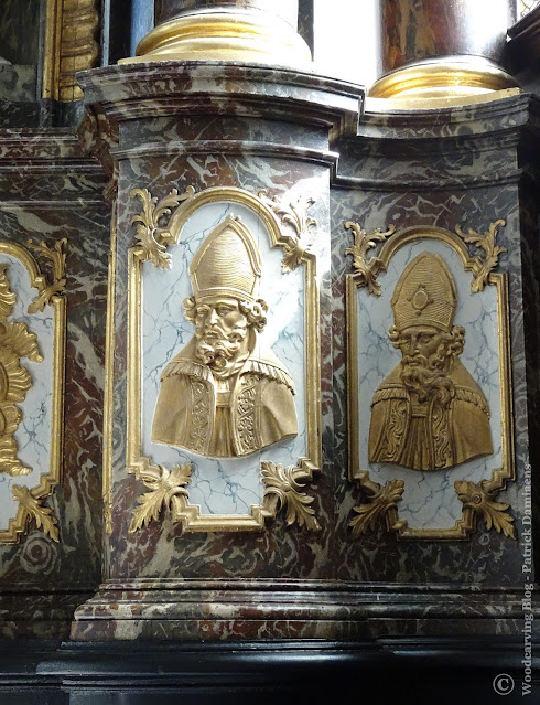
[[[61, 295], [66, 284], [66, 241], [52, 248], [44, 242], [29, 243], [29, 248], [39, 254], [48, 275], [29, 249], [0, 242], [0, 472], [18, 478], [17, 483], [9, 480], [2, 485], [15, 509], [13, 516], [4, 517], [9, 523], [0, 528], [0, 543], [17, 542], [32, 522], [54, 542], [60, 541], [58, 522], [43, 502], [60, 482], [62, 468], [65, 300]], [[21, 316], [24, 320], [12, 320]], [[40, 370], [47, 365], [50, 372], [43, 377]], [[37, 382], [46, 399], [36, 399]], [[32, 451], [36, 447], [31, 442], [34, 423], [44, 429], [39, 442], [44, 450], [39, 452]], [[30, 434], [24, 461], [19, 457], [19, 432], [21, 438]]]

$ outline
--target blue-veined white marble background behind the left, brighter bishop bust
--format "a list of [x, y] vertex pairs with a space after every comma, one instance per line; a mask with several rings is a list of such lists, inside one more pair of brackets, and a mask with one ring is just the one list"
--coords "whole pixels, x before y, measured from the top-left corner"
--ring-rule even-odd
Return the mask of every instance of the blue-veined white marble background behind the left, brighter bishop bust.
[[[267, 327], [258, 341], [261, 348], [274, 352], [294, 381], [299, 435], [242, 458], [214, 459], [153, 444], [151, 430], [160, 375], [194, 334], [194, 327], [185, 319], [182, 307], [182, 301], [193, 295], [190, 264], [203, 239], [229, 214], [241, 217], [261, 254], [259, 296], [267, 301], [269, 311]], [[168, 252], [172, 255], [171, 269], [156, 269], [151, 263], [144, 263], [142, 267], [142, 453], [168, 468], [192, 463], [190, 503], [198, 504], [203, 514], [246, 515], [251, 505], [260, 504], [262, 499], [261, 461], [295, 464], [307, 452], [304, 268], [282, 274], [283, 250], [271, 247], [270, 233], [263, 222], [249, 207], [230, 202], [208, 203], [198, 209], [183, 227], [179, 244]]]

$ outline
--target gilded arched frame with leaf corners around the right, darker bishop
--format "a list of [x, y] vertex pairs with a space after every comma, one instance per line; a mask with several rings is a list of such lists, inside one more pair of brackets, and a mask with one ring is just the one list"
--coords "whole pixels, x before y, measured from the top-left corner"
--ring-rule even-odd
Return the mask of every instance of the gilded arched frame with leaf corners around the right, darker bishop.
[[[354, 228], [360, 236], [363, 245], [361, 261], [355, 261], [355, 274], [346, 277], [346, 316], [347, 316], [347, 387], [348, 387], [348, 452], [349, 452], [349, 479], [359, 483], [367, 504], [355, 508], [363, 513], [363, 528], [354, 531], [356, 535], [375, 528], [375, 524], [384, 520], [387, 531], [395, 532], [398, 538], [404, 540], [466, 540], [476, 531], [478, 519], [486, 521], [487, 528], [492, 525], [497, 531], [515, 537], [514, 527], [509, 522], [514, 519], [504, 512], [508, 505], [493, 502], [495, 496], [506, 488], [507, 481], [515, 480], [514, 462], [514, 427], [512, 427], [512, 399], [511, 399], [511, 370], [510, 370], [510, 338], [509, 338], [509, 306], [508, 306], [508, 275], [494, 273], [498, 254], [504, 248], [495, 248], [497, 229], [504, 221], [492, 224], [489, 234], [493, 235], [494, 260], [486, 256], [483, 260], [471, 255], [465, 242], [478, 244], [478, 238], [466, 238], [456, 227], [457, 235], [441, 227], [414, 226], [399, 232], [390, 228], [380, 234], [376, 231], [366, 235], [357, 224], [347, 223], [347, 228]], [[473, 231], [471, 231], [473, 233]], [[458, 236], [460, 235], [460, 236]], [[476, 234], [475, 234], [476, 235]], [[487, 235], [487, 234], [486, 234]], [[371, 239], [369, 239], [371, 238]], [[403, 480], [391, 480], [385, 487], [374, 482], [367, 470], [360, 468], [359, 461], [359, 375], [358, 375], [358, 291], [367, 288], [366, 296], [377, 296], [379, 284], [376, 276], [379, 271], [386, 271], [393, 255], [403, 246], [421, 239], [435, 239], [445, 243], [458, 255], [466, 271], [473, 273], [472, 291], [480, 290], [484, 284], [496, 287], [497, 292], [497, 324], [498, 324], [498, 360], [499, 360], [499, 386], [501, 410], [501, 451], [503, 467], [494, 469], [489, 479], [483, 480], [478, 485], [471, 482], [456, 482], [455, 490], [463, 502], [462, 517], [456, 520], [452, 528], [410, 528], [408, 522], [400, 519], [397, 503], [401, 500], [404, 489]], [[485, 244], [485, 238], [482, 238]], [[377, 242], [384, 242], [380, 252], [371, 259], [366, 258], [368, 248], [376, 247]], [[357, 243], [358, 244], [358, 243]], [[355, 249], [356, 248], [356, 249]], [[358, 247], [350, 248], [347, 254], [355, 255]], [[487, 255], [488, 253], [486, 253]], [[493, 252], [492, 252], [493, 254]], [[487, 264], [489, 263], [490, 264]], [[378, 289], [380, 291], [380, 289]], [[460, 488], [457, 485], [461, 485]], [[464, 485], [471, 485], [465, 488]], [[468, 490], [468, 494], [465, 490]], [[355, 526], [358, 519], [353, 520]]]

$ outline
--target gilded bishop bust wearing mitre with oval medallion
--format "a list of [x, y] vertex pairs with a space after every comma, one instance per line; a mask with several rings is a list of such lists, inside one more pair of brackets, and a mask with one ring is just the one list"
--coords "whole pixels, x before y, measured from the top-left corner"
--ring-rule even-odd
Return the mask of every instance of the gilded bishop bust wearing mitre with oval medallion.
[[453, 324], [456, 305], [439, 255], [424, 252], [403, 270], [389, 332], [402, 359], [371, 402], [371, 462], [439, 470], [493, 453], [487, 399], [458, 359], [465, 330]]

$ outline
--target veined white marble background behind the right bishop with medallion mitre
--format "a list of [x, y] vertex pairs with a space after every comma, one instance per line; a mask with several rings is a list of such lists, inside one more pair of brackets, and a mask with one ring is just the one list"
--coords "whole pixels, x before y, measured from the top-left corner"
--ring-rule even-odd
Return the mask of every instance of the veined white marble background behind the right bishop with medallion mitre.
[[[465, 329], [465, 348], [460, 360], [489, 403], [494, 446], [492, 456], [430, 472], [393, 463], [370, 463], [368, 460], [371, 398], [382, 380], [401, 360], [400, 351], [388, 339], [388, 331], [393, 323], [390, 300], [403, 269], [422, 252], [441, 255], [454, 277], [457, 289], [454, 324]], [[357, 295], [360, 468], [369, 470], [371, 479], [381, 484], [393, 478], [404, 481], [398, 509], [400, 517], [407, 520], [411, 528], [452, 528], [463, 511], [454, 482], [478, 482], [492, 477], [493, 470], [503, 463], [497, 291], [494, 286], [488, 286], [484, 291], [472, 295], [471, 281], [472, 274], [464, 270], [452, 247], [441, 241], [422, 239], [400, 248], [392, 257], [388, 271], [379, 275], [382, 288], [380, 297], [368, 295], [367, 289], [359, 289]]]

